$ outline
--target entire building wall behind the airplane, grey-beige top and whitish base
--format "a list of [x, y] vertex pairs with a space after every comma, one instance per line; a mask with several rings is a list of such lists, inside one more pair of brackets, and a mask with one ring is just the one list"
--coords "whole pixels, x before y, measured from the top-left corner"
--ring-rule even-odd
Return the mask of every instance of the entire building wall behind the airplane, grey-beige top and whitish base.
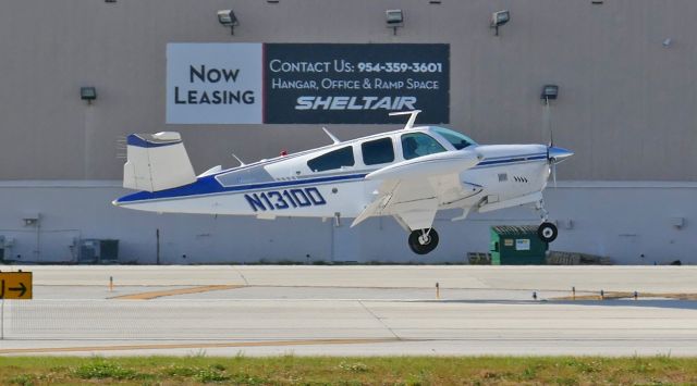
[[[216, 20], [231, 7], [234, 36]], [[384, 25], [392, 8], [405, 12], [396, 36]], [[494, 37], [489, 16], [501, 9], [512, 20]], [[319, 125], [164, 124], [168, 42], [444, 42], [449, 126], [479, 142], [547, 142], [539, 92], [560, 86], [554, 139], [576, 155], [546, 192], [563, 225], [553, 249], [695, 263], [695, 14], [692, 0], [1, 1], [0, 236], [20, 261], [65, 262], [74, 240], [117, 238], [122, 262], [154, 263], [156, 229], [162, 263], [416, 260], [392, 219], [348, 229], [112, 208], [124, 192], [118, 140], [179, 130], [197, 172], [236, 164], [231, 152], [252, 161], [329, 144]], [[81, 86], [97, 87], [94, 104], [80, 100]], [[348, 139], [399, 126], [328, 127]], [[25, 226], [36, 213], [39, 227]], [[441, 246], [423, 261], [462, 261], [488, 249], [488, 226], [538, 221], [529, 209], [460, 223], [448, 214], [435, 224]]]

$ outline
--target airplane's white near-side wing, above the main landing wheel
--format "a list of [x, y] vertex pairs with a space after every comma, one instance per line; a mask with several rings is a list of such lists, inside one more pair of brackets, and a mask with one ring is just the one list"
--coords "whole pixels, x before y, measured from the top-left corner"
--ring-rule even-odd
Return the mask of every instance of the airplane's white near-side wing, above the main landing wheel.
[[366, 179], [382, 183], [375, 200], [351, 226], [374, 215], [392, 214], [412, 231], [431, 227], [438, 206], [462, 197], [460, 173], [480, 159], [470, 150], [448, 151], [406, 160], [368, 174]]

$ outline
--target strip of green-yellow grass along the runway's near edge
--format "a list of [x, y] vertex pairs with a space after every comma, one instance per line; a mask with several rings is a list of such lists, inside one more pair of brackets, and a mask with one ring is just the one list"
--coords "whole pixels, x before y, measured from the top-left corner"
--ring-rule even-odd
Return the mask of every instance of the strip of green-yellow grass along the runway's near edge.
[[3, 357], [2, 385], [694, 385], [697, 358]]

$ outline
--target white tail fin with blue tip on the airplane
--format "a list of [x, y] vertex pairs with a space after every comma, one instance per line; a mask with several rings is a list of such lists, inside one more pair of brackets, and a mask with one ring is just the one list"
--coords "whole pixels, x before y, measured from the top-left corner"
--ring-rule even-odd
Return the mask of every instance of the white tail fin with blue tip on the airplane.
[[126, 144], [124, 188], [158, 191], [196, 180], [179, 133], [131, 134]]

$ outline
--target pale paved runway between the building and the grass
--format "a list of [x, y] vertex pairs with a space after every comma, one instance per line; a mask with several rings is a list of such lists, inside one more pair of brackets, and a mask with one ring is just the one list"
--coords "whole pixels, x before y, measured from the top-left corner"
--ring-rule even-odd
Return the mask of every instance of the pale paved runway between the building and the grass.
[[20, 269], [3, 356], [697, 356], [697, 302], [661, 296], [697, 294], [693, 266]]

